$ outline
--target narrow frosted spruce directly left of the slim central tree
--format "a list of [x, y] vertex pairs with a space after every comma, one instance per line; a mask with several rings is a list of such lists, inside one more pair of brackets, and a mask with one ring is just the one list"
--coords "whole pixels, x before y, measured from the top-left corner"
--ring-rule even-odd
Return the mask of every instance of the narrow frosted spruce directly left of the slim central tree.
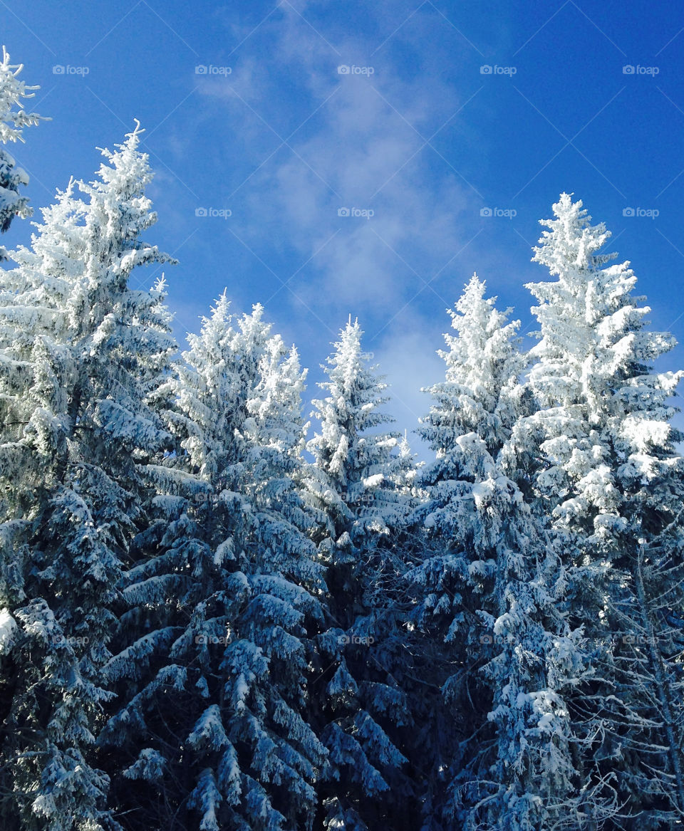
[[[273, 337], [259, 362], [244, 424], [253, 509], [251, 556], [244, 565], [250, 591], [226, 651], [232, 668], [226, 693], [237, 711], [233, 734], [250, 745], [254, 782], [248, 775], [244, 789], [249, 827], [263, 831], [312, 828], [313, 785], [327, 757], [309, 723], [309, 667], [317, 661], [312, 636], [322, 626], [326, 587], [309, 538], [312, 514], [300, 495], [304, 377], [297, 352], [288, 353]], [[268, 676], [262, 679], [264, 661]], [[257, 796], [258, 813], [249, 805]]]

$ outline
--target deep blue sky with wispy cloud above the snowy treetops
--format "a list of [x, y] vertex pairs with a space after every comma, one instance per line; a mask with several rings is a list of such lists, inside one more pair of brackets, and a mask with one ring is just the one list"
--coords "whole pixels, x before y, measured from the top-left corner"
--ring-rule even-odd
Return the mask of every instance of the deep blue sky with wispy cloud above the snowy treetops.
[[52, 116], [12, 150], [35, 207], [146, 128], [181, 339], [227, 287], [297, 343], [314, 394], [352, 314], [411, 430], [473, 271], [534, 330], [530, 248], [566, 190], [613, 231], [652, 327], [684, 341], [677, 3], [0, 0], [0, 20]]

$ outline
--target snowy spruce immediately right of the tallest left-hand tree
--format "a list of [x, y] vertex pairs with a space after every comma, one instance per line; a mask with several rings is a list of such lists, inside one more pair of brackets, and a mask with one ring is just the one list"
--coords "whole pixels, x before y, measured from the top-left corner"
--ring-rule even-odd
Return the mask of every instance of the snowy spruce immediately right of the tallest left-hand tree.
[[[193, 740], [189, 736], [211, 701], [223, 699], [216, 644], [225, 642], [230, 612], [244, 600], [244, 585], [226, 568], [234, 559], [233, 539], [215, 557], [211, 543], [224, 530], [217, 494], [234, 494], [235, 537], [249, 511], [237, 493], [243, 450], [237, 428], [268, 334], [252, 326], [257, 336], [238, 345], [231, 322], [224, 294], [199, 336], [189, 336], [189, 352], [170, 376], [170, 406], [163, 417], [175, 435], [175, 451], [148, 468], [158, 484], [150, 494], [152, 521], [135, 538], [124, 576], [118, 649], [106, 667], [118, 697], [101, 745], [111, 756], [112, 804], [127, 829], [158, 822], [169, 829], [185, 827], [195, 784], [204, 785], [206, 799], [217, 788], [213, 774], [202, 773], [204, 766], [193, 770], [192, 755], [195, 744], [199, 750], [208, 744], [214, 753], [221, 750], [215, 705], [205, 720], [204, 739], [202, 730]], [[225, 759], [228, 764], [229, 748]], [[223, 796], [215, 794], [227, 804], [240, 787], [231, 770], [232, 765], [224, 769]], [[209, 804], [207, 811], [210, 824]]]

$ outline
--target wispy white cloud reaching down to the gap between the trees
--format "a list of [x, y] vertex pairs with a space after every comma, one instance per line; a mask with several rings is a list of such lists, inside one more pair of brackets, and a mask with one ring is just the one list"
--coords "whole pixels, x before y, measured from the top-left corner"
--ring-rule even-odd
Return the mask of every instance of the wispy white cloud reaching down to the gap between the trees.
[[[305, 7], [298, 4], [298, 11]], [[282, 278], [288, 273], [274, 263], [279, 252], [288, 262], [293, 251], [299, 264], [310, 259], [289, 283], [294, 295], [281, 288], [273, 303], [254, 299], [266, 301], [268, 316], [283, 319], [276, 327], [292, 331], [298, 342], [308, 345], [311, 335], [317, 352], [324, 349], [319, 360], [332, 339], [330, 329], [337, 332], [349, 312], [358, 316], [366, 347], [391, 383], [397, 426], [412, 430], [430, 403], [421, 386], [443, 375], [435, 351], [443, 345], [449, 319], [432, 320], [427, 310], [435, 302], [444, 309], [460, 293], [468, 275], [452, 259], [472, 236], [466, 228], [481, 206], [450, 164], [423, 146], [424, 138], [472, 91], [459, 96], [435, 66], [426, 82], [424, 67], [413, 73], [397, 66], [387, 47], [367, 57], [386, 36], [371, 45], [348, 31], [342, 37], [322, 32], [329, 45], [284, 3], [259, 31], [269, 44], [259, 53], [268, 58], [255, 61], [247, 52], [235, 62], [229, 85], [207, 79], [201, 91], [212, 107], [220, 102], [234, 138], [229, 153], [243, 167], [248, 160], [252, 174], [234, 195], [231, 229], [259, 256], [266, 248], [263, 256]], [[374, 71], [340, 75], [342, 64]], [[288, 104], [283, 78], [292, 87]], [[293, 100], [296, 118], [288, 109]], [[276, 150], [278, 135], [288, 138], [311, 113], [289, 140], [291, 149]], [[455, 125], [458, 119], [450, 129]], [[231, 181], [229, 190], [239, 184]], [[341, 217], [340, 208], [374, 214]], [[440, 269], [439, 284], [426, 288]], [[450, 273], [460, 274], [458, 286], [442, 296]], [[314, 371], [312, 381], [318, 376]], [[412, 440], [419, 445], [416, 436]]]

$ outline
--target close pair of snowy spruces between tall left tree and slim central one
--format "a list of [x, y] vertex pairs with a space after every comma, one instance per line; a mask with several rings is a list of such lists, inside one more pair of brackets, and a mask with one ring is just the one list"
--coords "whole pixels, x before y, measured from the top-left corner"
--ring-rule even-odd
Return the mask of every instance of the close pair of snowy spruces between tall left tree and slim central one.
[[109, 667], [123, 707], [103, 744], [124, 762], [130, 829], [312, 821], [326, 754], [306, 682], [324, 584], [297, 490], [303, 372], [262, 314], [236, 320], [221, 297], [170, 381], [178, 452], [155, 473], [160, 520], [125, 578], [140, 637]]

